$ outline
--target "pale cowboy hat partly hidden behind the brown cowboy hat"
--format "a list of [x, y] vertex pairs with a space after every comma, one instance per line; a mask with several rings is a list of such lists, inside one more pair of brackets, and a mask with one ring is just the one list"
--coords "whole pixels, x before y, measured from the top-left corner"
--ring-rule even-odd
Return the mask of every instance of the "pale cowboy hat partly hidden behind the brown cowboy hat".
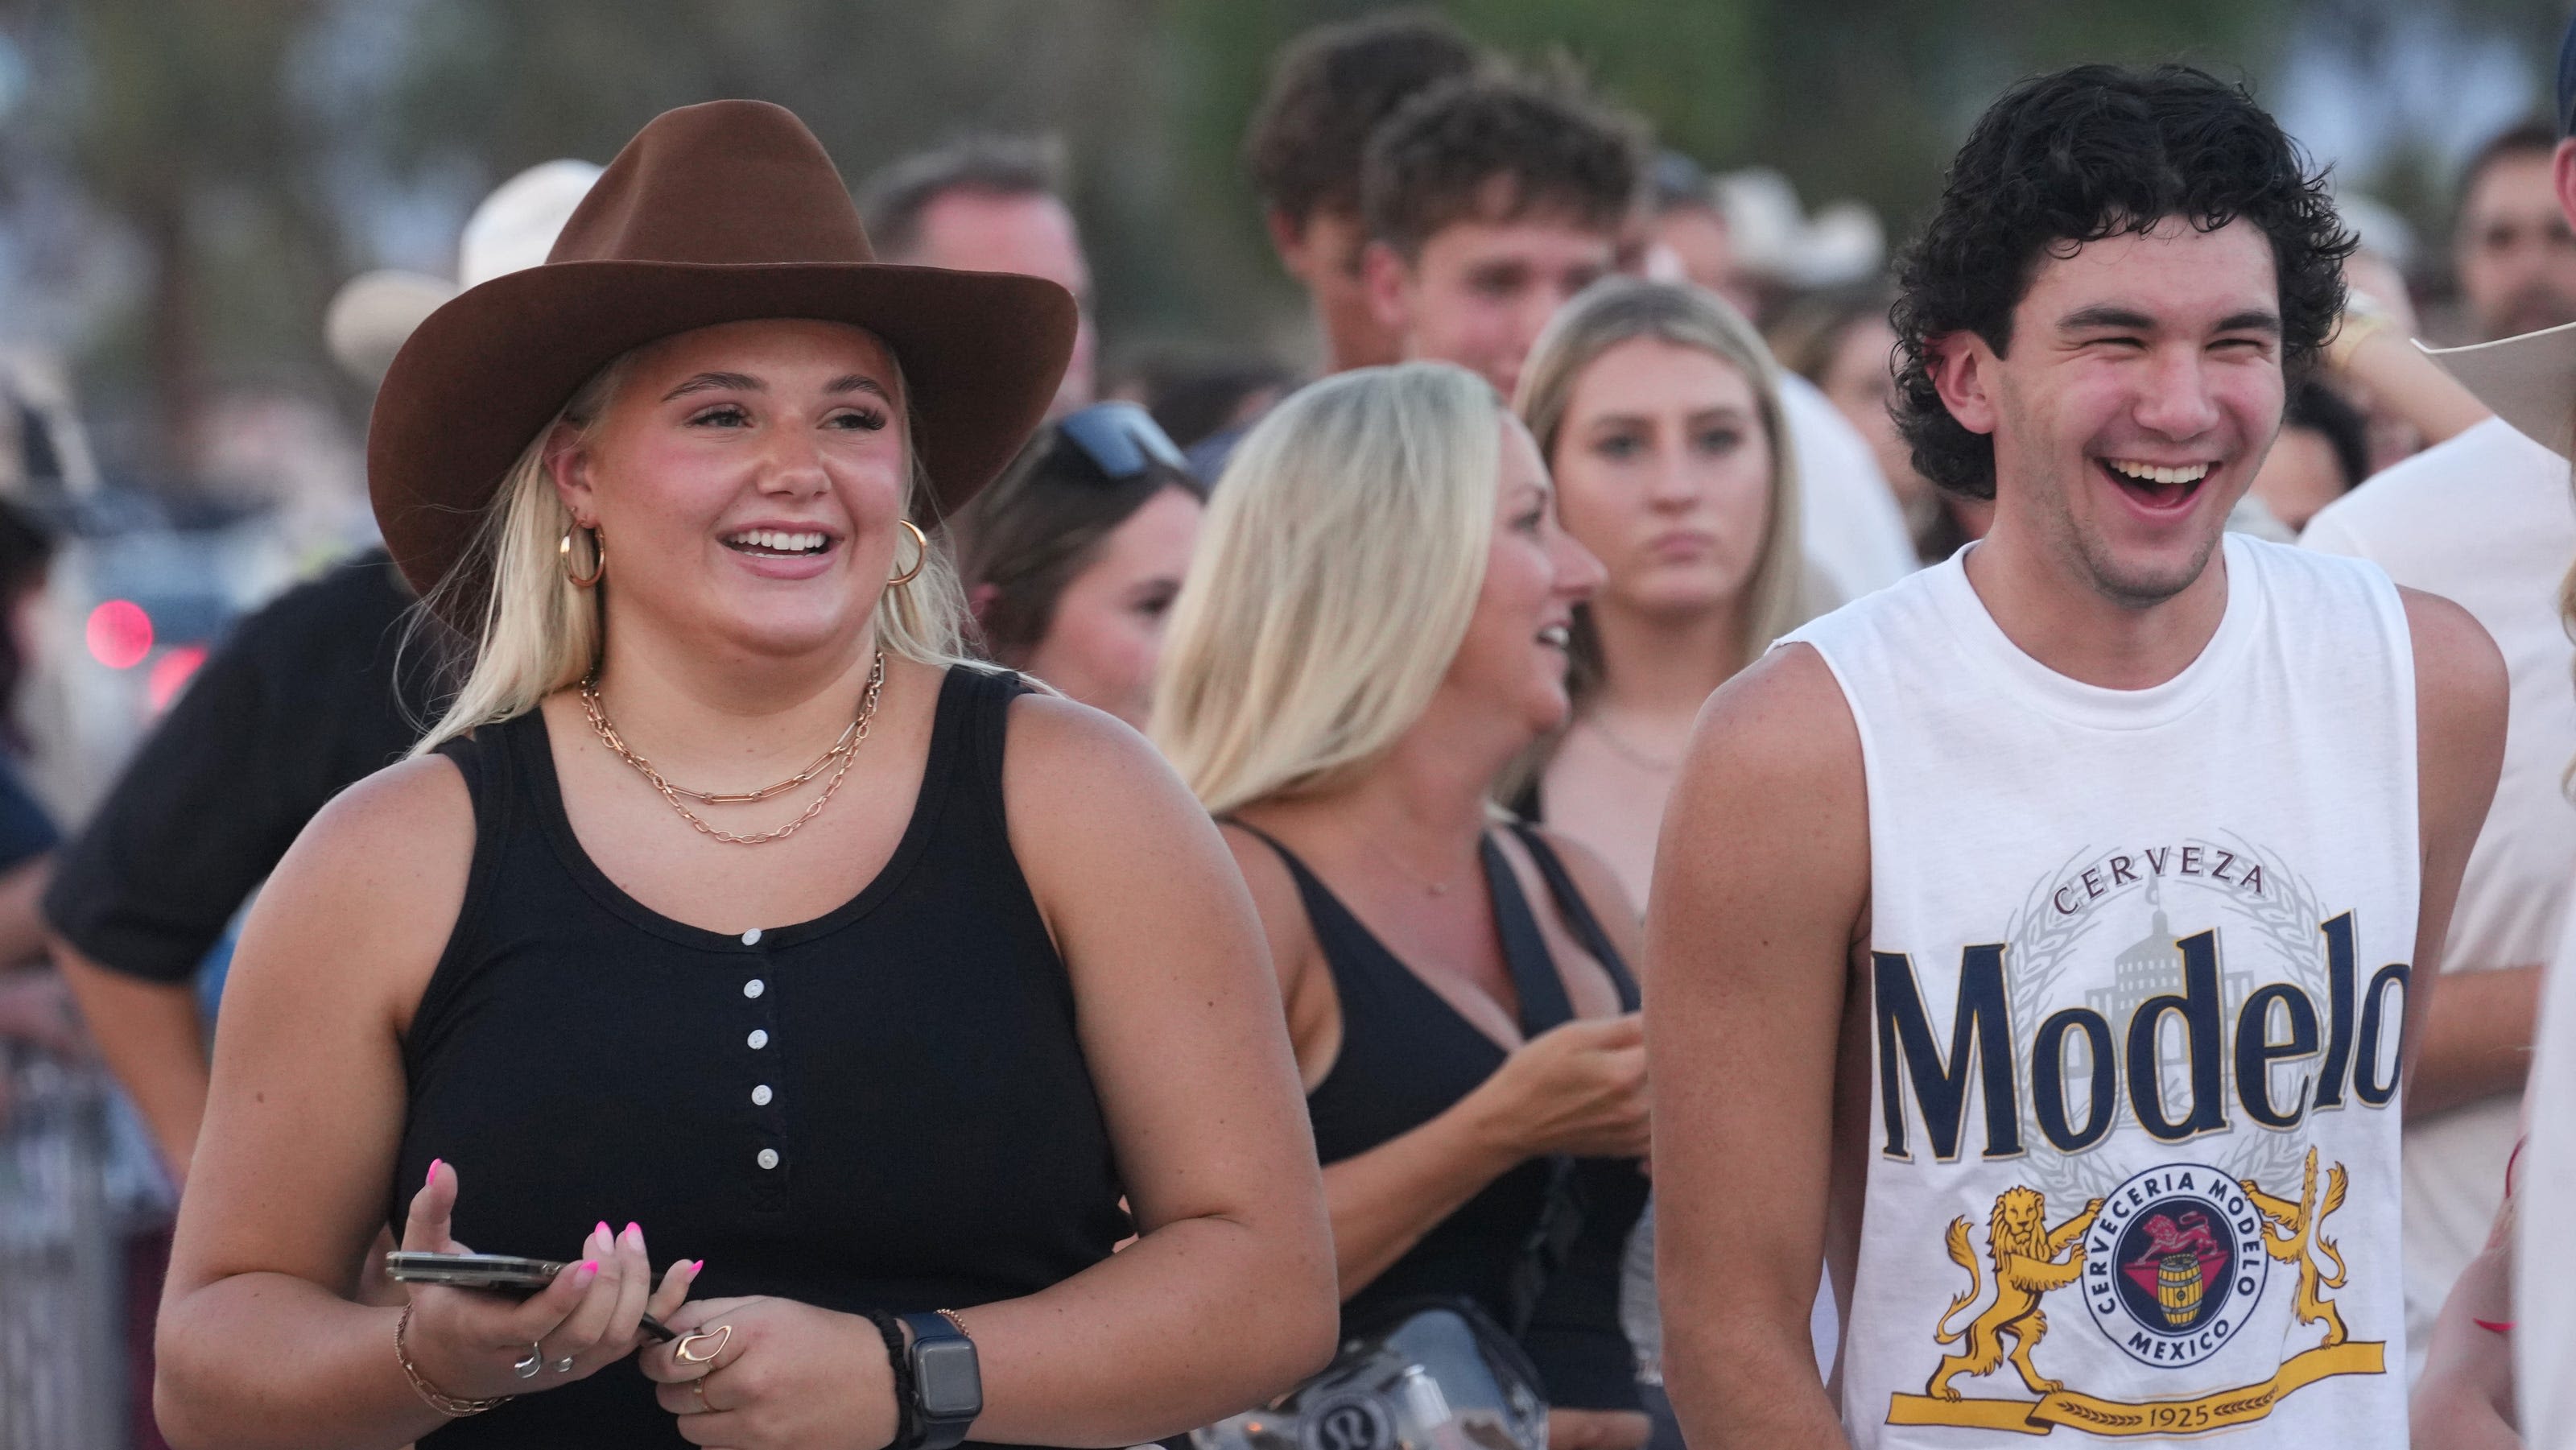
[[322, 314], [330, 355], [374, 386], [422, 317], [469, 286], [544, 263], [598, 178], [600, 167], [592, 162], [551, 160], [492, 188], [456, 240], [456, 281], [394, 268], [348, 278]]

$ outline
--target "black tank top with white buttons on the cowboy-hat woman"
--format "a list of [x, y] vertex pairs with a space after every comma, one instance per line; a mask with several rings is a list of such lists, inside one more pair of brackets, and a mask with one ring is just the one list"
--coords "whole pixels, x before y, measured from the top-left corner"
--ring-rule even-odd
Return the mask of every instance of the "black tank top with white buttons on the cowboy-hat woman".
[[[644, 1223], [698, 1298], [966, 1308], [1131, 1229], [1074, 997], [1002, 824], [1015, 675], [951, 670], [876, 881], [739, 937], [649, 912], [582, 852], [528, 713], [443, 749], [474, 873], [404, 1040], [386, 1213], [456, 1164], [456, 1239], [559, 1259]], [[672, 829], [683, 829], [672, 822]], [[634, 1360], [461, 1419], [440, 1447], [683, 1447]]]

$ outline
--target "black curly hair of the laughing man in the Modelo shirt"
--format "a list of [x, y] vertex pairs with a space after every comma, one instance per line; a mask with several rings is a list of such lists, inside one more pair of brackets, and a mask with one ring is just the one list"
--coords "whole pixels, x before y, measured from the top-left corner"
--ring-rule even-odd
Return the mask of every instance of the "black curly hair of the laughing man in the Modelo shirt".
[[1932, 343], [1976, 332], [2004, 353], [2043, 255], [2146, 234], [2172, 216], [2202, 232], [2241, 216], [2272, 240], [2282, 361], [2303, 373], [2344, 309], [2354, 240], [2324, 173], [2244, 88], [2187, 64], [2079, 64], [1986, 108], [1899, 263], [1896, 425], [1922, 476], [1994, 497], [1994, 440], [1942, 407], [1927, 371]]

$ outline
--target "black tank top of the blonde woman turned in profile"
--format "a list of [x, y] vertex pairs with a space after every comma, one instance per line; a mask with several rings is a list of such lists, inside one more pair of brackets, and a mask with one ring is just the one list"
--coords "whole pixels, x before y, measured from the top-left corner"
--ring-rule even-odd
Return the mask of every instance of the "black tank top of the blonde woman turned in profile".
[[[1558, 919], [1610, 974], [1620, 1010], [1636, 1012], [1636, 979], [1556, 850], [1525, 827], [1515, 834], [1548, 881]], [[1288, 863], [1316, 948], [1332, 968], [1332, 989], [1342, 999], [1342, 1051], [1324, 1082], [1306, 1095], [1316, 1156], [1334, 1164], [1448, 1113], [1494, 1077], [1510, 1053], [1396, 961], [1296, 852], [1267, 834], [1262, 840]], [[1520, 1028], [1538, 1035], [1569, 1015], [1564, 986], [1553, 981], [1556, 968], [1530, 901], [1520, 894], [1520, 878], [1492, 840], [1484, 842], [1484, 865], [1507, 956], [1517, 945], [1522, 961], [1535, 953], [1546, 963], [1543, 989], [1553, 997], [1553, 1015], [1546, 1002], [1533, 999], [1538, 992], [1520, 994]], [[1638, 1409], [1636, 1352], [1620, 1329], [1618, 1290], [1620, 1254], [1643, 1208], [1646, 1174], [1636, 1159], [1530, 1159], [1458, 1205], [1345, 1301], [1342, 1329], [1368, 1329], [1404, 1301], [1466, 1295], [1497, 1324], [1528, 1321], [1520, 1344], [1538, 1368], [1551, 1406]], [[1571, 1241], [1546, 1254], [1546, 1277], [1530, 1301], [1528, 1283], [1515, 1280], [1530, 1275], [1533, 1236], [1546, 1236], [1551, 1223], [1564, 1226], [1569, 1216], [1579, 1226]]]

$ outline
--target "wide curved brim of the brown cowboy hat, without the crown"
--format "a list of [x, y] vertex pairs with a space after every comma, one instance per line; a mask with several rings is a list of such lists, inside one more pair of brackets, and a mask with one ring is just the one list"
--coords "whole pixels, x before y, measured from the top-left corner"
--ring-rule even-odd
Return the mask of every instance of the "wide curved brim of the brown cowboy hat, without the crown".
[[[366, 479], [376, 525], [415, 590], [464, 559], [502, 474], [603, 366], [631, 348], [762, 317], [873, 332], [904, 371], [933, 507], [953, 513], [1046, 417], [1074, 350], [1074, 299], [1015, 273], [886, 263], [549, 263], [433, 312], [376, 391]], [[474, 582], [443, 595], [479, 628]]]

